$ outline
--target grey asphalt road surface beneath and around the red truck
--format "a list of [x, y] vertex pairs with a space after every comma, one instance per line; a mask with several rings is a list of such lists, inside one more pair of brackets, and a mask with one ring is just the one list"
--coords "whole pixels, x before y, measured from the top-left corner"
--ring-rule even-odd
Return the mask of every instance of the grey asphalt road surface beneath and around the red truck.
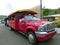
[[[59, 31], [58, 31], [59, 32]], [[9, 27], [0, 25], [0, 45], [31, 45], [27, 38]], [[40, 42], [36, 45], [60, 45], [60, 34], [55, 35], [51, 40]]]

